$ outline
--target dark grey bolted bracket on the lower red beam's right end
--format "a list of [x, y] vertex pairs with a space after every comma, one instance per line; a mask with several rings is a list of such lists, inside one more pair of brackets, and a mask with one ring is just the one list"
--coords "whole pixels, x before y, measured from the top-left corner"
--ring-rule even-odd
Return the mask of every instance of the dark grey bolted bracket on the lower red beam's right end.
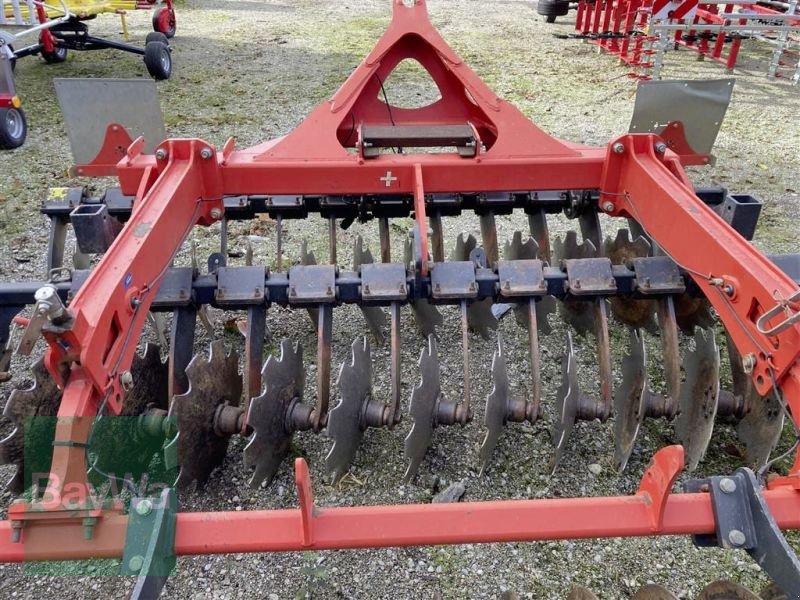
[[695, 545], [744, 549], [789, 598], [800, 597], [800, 560], [775, 523], [753, 471], [741, 468], [728, 477], [692, 480], [686, 491], [711, 494], [717, 523], [715, 534], [692, 536]]

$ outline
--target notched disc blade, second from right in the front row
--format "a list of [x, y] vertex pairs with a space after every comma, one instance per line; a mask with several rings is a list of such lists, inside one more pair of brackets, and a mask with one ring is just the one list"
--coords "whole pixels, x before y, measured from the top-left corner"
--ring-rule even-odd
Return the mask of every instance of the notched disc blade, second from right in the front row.
[[719, 403], [719, 348], [713, 329], [698, 329], [694, 345], [684, 360], [686, 380], [675, 419], [675, 433], [686, 450], [689, 471], [696, 469], [705, 455]]

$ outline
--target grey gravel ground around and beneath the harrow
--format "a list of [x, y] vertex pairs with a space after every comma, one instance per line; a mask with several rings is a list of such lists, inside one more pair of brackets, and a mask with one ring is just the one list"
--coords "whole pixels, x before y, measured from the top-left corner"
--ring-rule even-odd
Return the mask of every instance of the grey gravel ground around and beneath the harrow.
[[[432, 0], [434, 23], [464, 59], [498, 94], [513, 101], [529, 117], [554, 135], [575, 142], [603, 144], [627, 128], [635, 83], [609, 56], [592, 44], [556, 39], [553, 32], [571, 30], [574, 13], [547, 26], [535, 13], [533, 2], [457, 2]], [[388, 23], [386, 0], [333, 2], [260, 2], [193, 0], [179, 6], [175, 38], [175, 72], [159, 84], [168, 133], [175, 137], [202, 137], [215, 145], [234, 135], [244, 147], [290, 131], [310, 109], [328, 97], [374, 44]], [[137, 41], [149, 31], [150, 14], [129, 17]], [[95, 24], [93, 24], [93, 27]], [[113, 18], [101, 18], [98, 32], [118, 34]], [[768, 49], [745, 44], [742, 68], [737, 71], [733, 103], [720, 133], [717, 165], [692, 169], [698, 183], [719, 182], [735, 191], [750, 191], [765, 203], [755, 243], [769, 252], [796, 252], [796, 214], [800, 209], [800, 175], [797, 156], [800, 128], [796, 118], [798, 88], [768, 82], [763, 75]], [[697, 62], [687, 52], [667, 57], [666, 77], [725, 76], [718, 65]], [[4, 280], [41, 277], [46, 247], [46, 224], [38, 206], [48, 186], [77, 185], [64, 176], [69, 148], [53, 97], [52, 77], [144, 77], [144, 68], [131, 56], [111, 52], [71, 56], [53, 67], [33, 58], [20, 61], [17, 82], [31, 123], [27, 145], [2, 155], [0, 172], [0, 276]], [[424, 78], [403, 69], [387, 81], [387, 94], [401, 105], [418, 105], [430, 99]], [[86, 182], [81, 182], [86, 183]], [[100, 186], [102, 182], [90, 182]], [[398, 260], [409, 223], [393, 223]], [[555, 233], [573, 225], [554, 220]], [[325, 224], [318, 220], [293, 223], [286, 233], [287, 255], [299, 254], [300, 241], [321, 259], [327, 257]], [[524, 216], [498, 219], [499, 237], [510, 239], [524, 227]], [[458, 233], [478, 235], [474, 217], [446, 223], [447, 250]], [[613, 232], [613, 229], [608, 231]], [[234, 224], [231, 248], [243, 250], [249, 241], [260, 261], [273, 261], [272, 224], [263, 221]], [[377, 232], [354, 227], [340, 232], [340, 256], [349, 254], [355, 234], [361, 233], [373, 251]], [[195, 242], [201, 259], [213, 249], [216, 232], [197, 231]], [[238, 259], [241, 261], [241, 259]], [[236, 259], [234, 260], [236, 262]], [[461, 351], [458, 314], [444, 310], [440, 334], [443, 357], [442, 387], [454, 397], [461, 393]], [[216, 335], [232, 347], [241, 347], [238, 334], [224, 328], [229, 315], [212, 311]], [[410, 311], [403, 316], [404, 410], [412, 386], [423, 340], [416, 334]], [[534, 426], [516, 425], [502, 437], [492, 467], [477, 476], [477, 446], [481, 437], [483, 398], [490, 391], [489, 368], [494, 341], [471, 338], [472, 395], [475, 421], [461, 429], [437, 431], [434, 446], [413, 485], [402, 485], [402, 439], [409, 427], [369, 431], [364, 437], [353, 476], [336, 487], [324, 483], [323, 458], [329, 447], [324, 436], [296, 436], [293, 453], [307, 457], [321, 506], [427, 502], [439, 489], [462, 481], [465, 500], [540, 498], [567, 495], [630, 493], [659, 447], [673, 440], [672, 427], [648, 423], [625, 474], [612, 466], [613, 425], [580, 423], [559, 470], [547, 473], [551, 455], [547, 426], [552, 418], [554, 394], [566, 328], [553, 323], [554, 333], [543, 339], [543, 389], [545, 418]], [[314, 397], [315, 339], [303, 312], [280, 308], [270, 311], [273, 341], [265, 355], [274, 352], [281, 337], [291, 336], [306, 348], [308, 398]], [[615, 326], [614, 360], [622, 355], [623, 331]], [[513, 319], [501, 324], [511, 359], [509, 371], [519, 393], [526, 390], [528, 365], [525, 334]], [[350, 342], [364, 335], [357, 310], [336, 311], [334, 368], [346, 358]], [[198, 329], [198, 351], [210, 337]], [[648, 342], [656, 352], [657, 343]], [[578, 342], [584, 384], [592, 391], [591, 340]], [[685, 344], [684, 344], [685, 345]], [[657, 356], [657, 354], [654, 354]], [[373, 357], [378, 395], [388, 386], [388, 349], [375, 348]], [[654, 362], [657, 362], [655, 360]], [[26, 363], [15, 359], [18, 375], [0, 388], [2, 401], [13, 385], [26, 377]], [[723, 382], [723, 385], [727, 382]], [[730, 472], [741, 460], [731, 456], [735, 434], [721, 424], [711, 442], [700, 474]], [[244, 442], [234, 439], [222, 469], [200, 493], [181, 497], [184, 510], [246, 510], [293, 507], [297, 497], [287, 461], [268, 487], [250, 490], [241, 464]], [[6, 468], [7, 470], [7, 468]], [[0, 473], [5, 477], [4, 473]], [[684, 477], [685, 479], [685, 477]], [[0, 496], [3, 505], [9, 494]], [[797, 538], [791, 538], [797, 547]], [[100, 561], [46, 568], [0, 565], [0, 595], [15, 598], [105, 598], [130, 588], [130, 580], [110, 576], [117, 565]], [[33, 575], [32, 575], [33, 574]], [[71, 574], [71, 576], [65, 576]], [[306, 552], [281, 555], [181, 558], [164, 593], [168, 598], [491, 598], [514, 590], [526, 598], [564, 598], [574, 584], [594, 589], [601, 598], [628, 598], [641, 585], [657, 582], [680, 598], [694, 598], [708, 582], [729, 578], [758, 590], [767, 577], [744, 554], [694, 548], [687, 538], [614, 539], [539, 544], [464, 545], [442, 548], [402, 548], [375, 551]]]

